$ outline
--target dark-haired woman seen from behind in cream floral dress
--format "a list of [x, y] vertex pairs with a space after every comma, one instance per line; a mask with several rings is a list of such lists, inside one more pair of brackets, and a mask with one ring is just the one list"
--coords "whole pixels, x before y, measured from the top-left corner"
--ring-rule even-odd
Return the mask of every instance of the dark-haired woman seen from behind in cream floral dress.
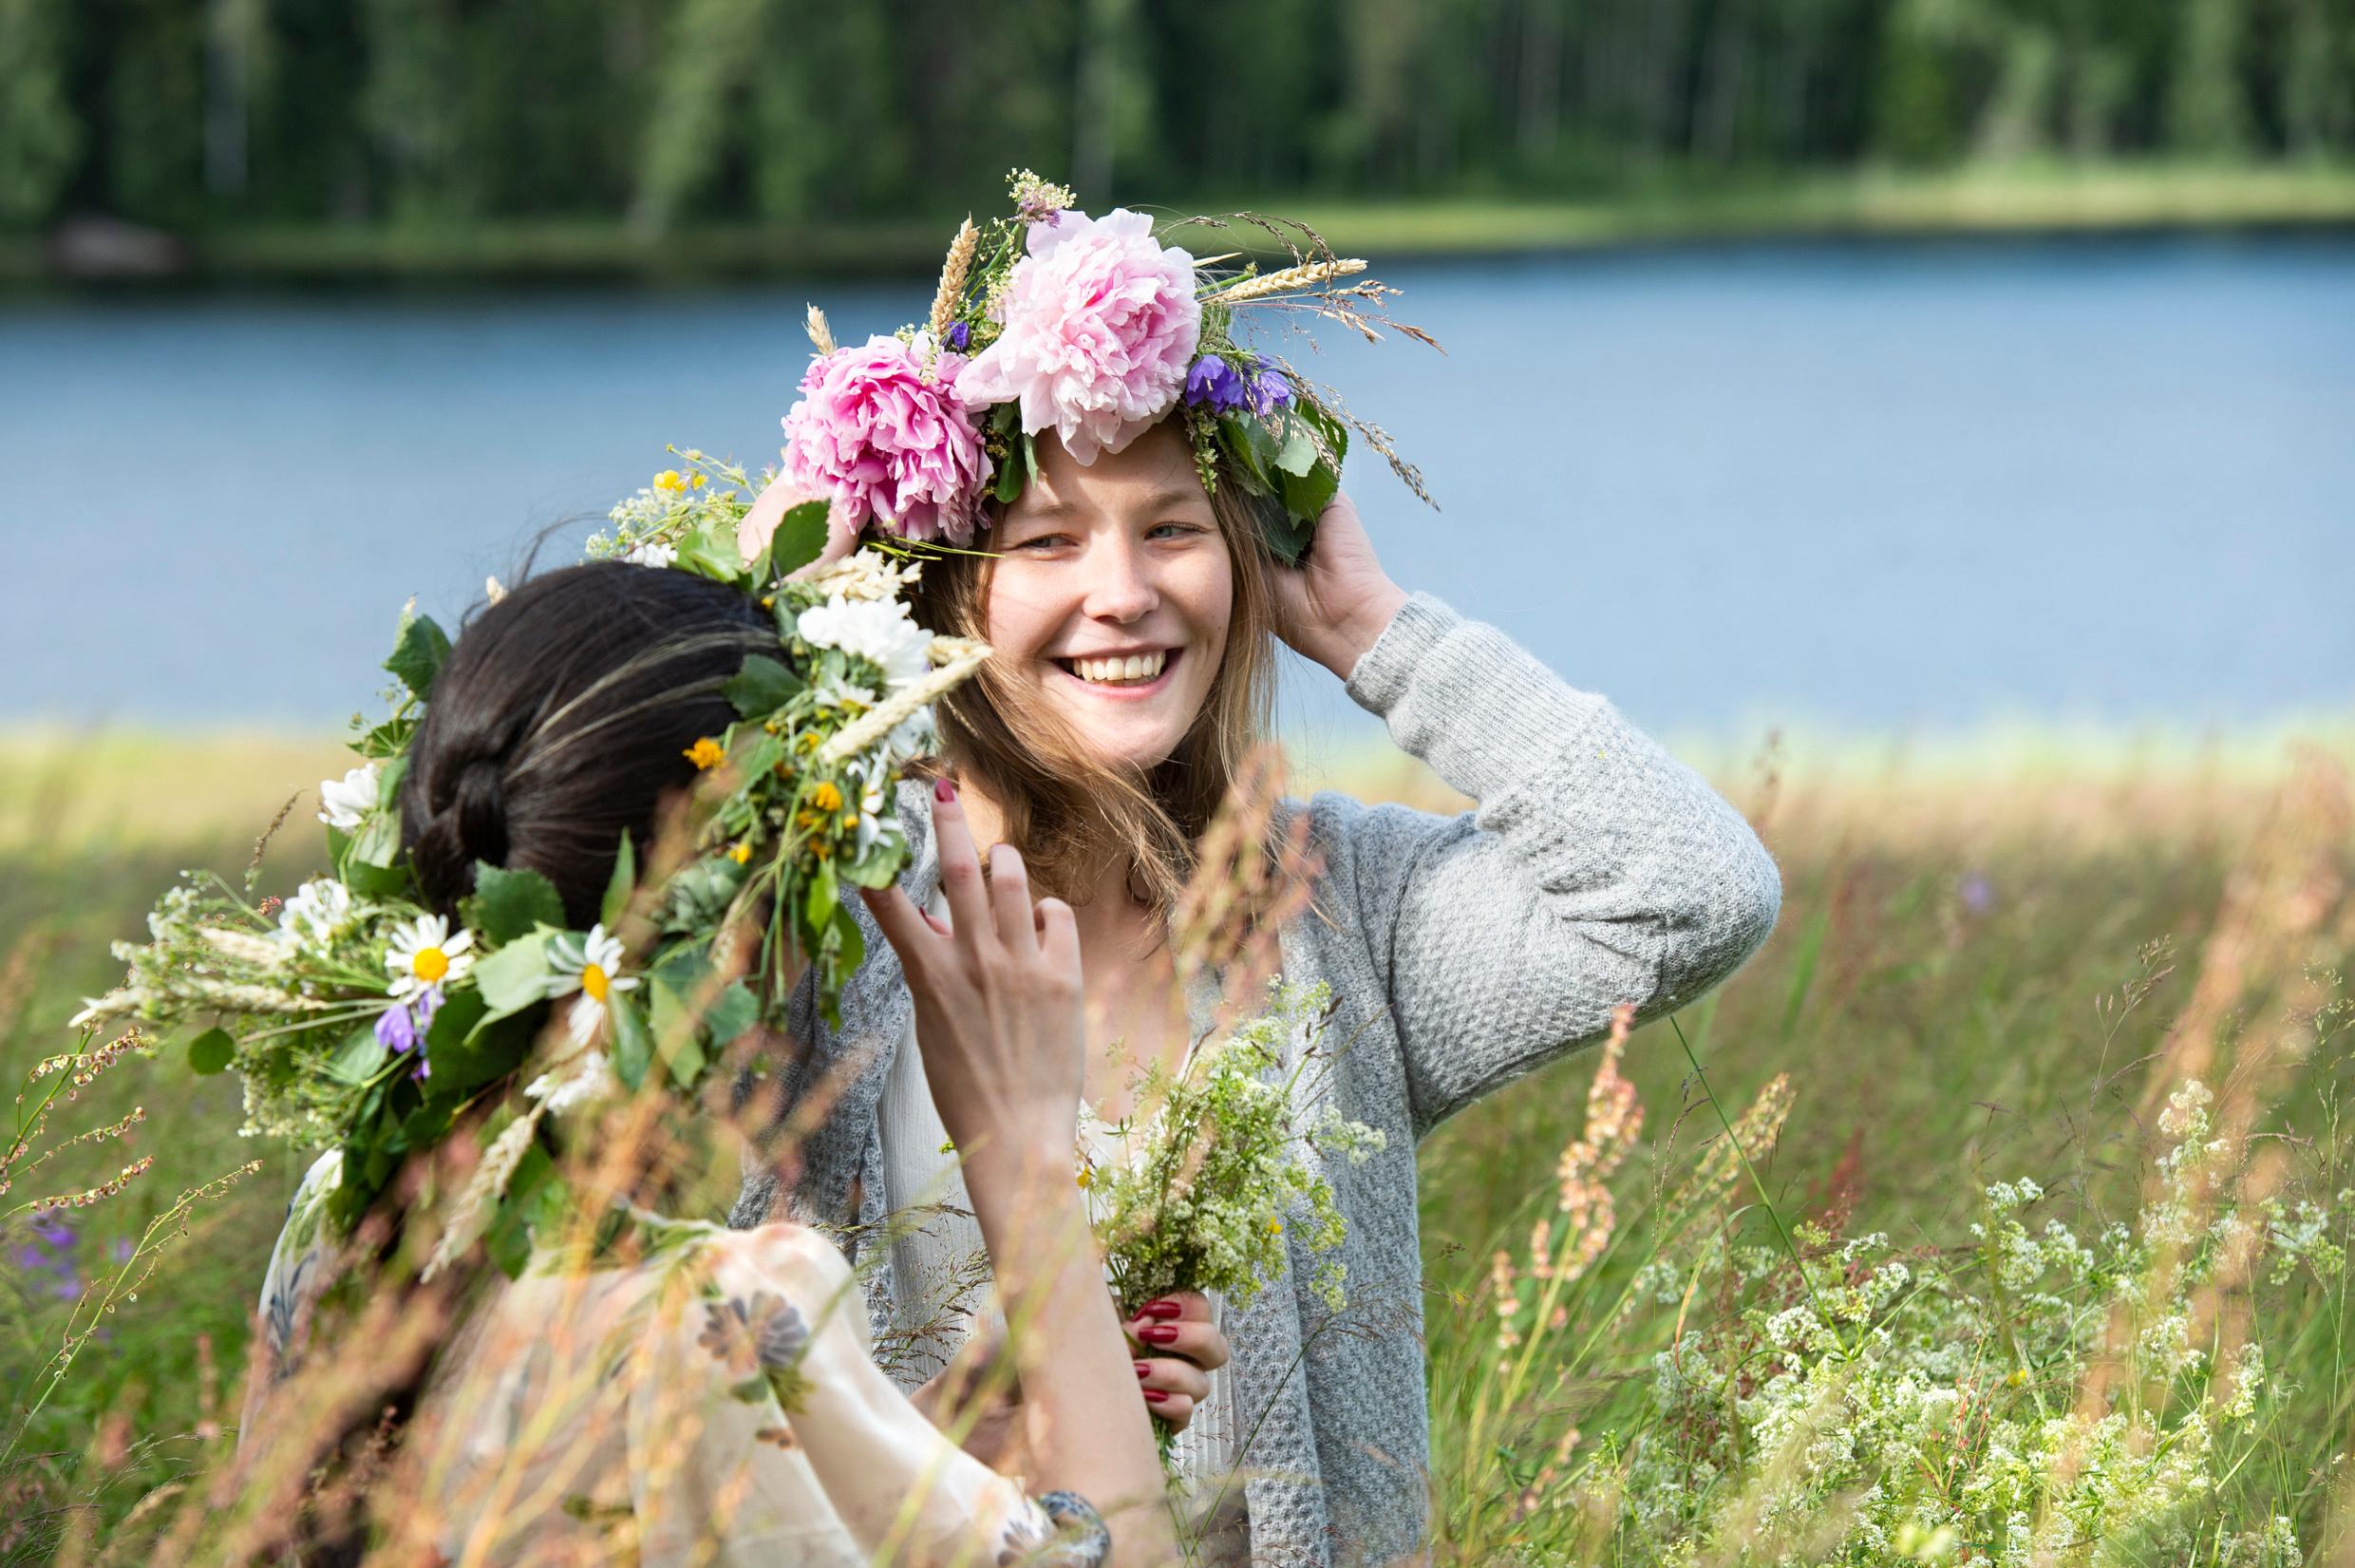
[[[699, 735], [730, 720], [721, 685], [775, 631], [735, 591], [683, 572], [586, 565], [480, 612], [438, 676], [403, 777], [403, 843], [426, 899], [455, 916], [476, 862], [556, 883], [593, 921], [622, 833], [652, 838], [690, 784]], [[977, 888], [973, 843], [937, 824]], [[942, 1118], [973, 1151], [968, 1189], [999, 1290], [1055, 1358], [1027, 1366], [1027, 1483], [935, 1429], [869, 1358], [834, 1243], [641, 1217], [645, 1262], [490, 1278], [438, 1344], [400, 1436], [393, 1547], [492, 1563], [1121, 1563], [1173, 1554], [1161, 1467], [1135, 1401], [1069, 1151], [1081, 1081], [1079, 942], [1069, 906], [958, 906], [956, 935], [900, 932]], [[791, 984], [794, 975], [777, 977]], [[264, 1354], [245, 1434], [299, 1448], [334, 1398], [337, 1361], [306, 1344], [334, 1276], [313, 1168], [264, 1285]], [[396, 1326], [398, 1328], [398, 1326]], [[318, 1377], [292, 1377], [299, 1366]], [[292, 1450], [290, 1450], [292, 1453]], [[297, 1479], [306, 1453], [292, 1453]], [[1090, 1507], [1090, 1500], [1095, 1507]], [[1097, 1514], [1097, 1507], [1102, 1514]], [[1109, 1530], [1107, 1530], [1109, 1523]]]

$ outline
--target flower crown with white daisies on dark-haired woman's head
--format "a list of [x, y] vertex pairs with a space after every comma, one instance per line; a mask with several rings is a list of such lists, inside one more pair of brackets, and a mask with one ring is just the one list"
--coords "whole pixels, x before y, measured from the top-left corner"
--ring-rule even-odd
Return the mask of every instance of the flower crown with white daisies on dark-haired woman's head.
[[589, 930], [570, 928], [544, 876], [492, 864], [476, 864], [455, 925], [429, 909], [400, 850], [398, 791], [450, 638], [405, 612], [384, 662], [393, 709], [356, 720], [360, 765], [320, 784], [332, 873], [259, 902], [257, 871], [243, 890], [186, 873], [148, 916], [151, 939], [115, 944], [125, 984], [73, 1019], [193, 1029], [195, 1071], [243, 1076], [247, 1135], [339, 1151], [327, 1215], [341, 1231], [403, 1156], [443, 1142], [539, 1050], [546, 1071], [478, 1128], [483, 1158], [429, 1274], [476, 1238], [520, 1271], [535, 1227], [563, 1212], [546, 1118], [648, 1083], [714, 1083], [737, 1038], [784, 1022], [763, 961], [803, 954], [838, 1017], [862, 961], [845, 888], [897, 881], [909, 848], [893, 782], [933, 742], [928, 704], [989, 657], [909, 619], [918, 563], [857, 551], [789, 579], [827, 542], [824, 504], [791, 509], [739, 556], [751, 480], [702, 452], [683, 459], [612, 511], [619, 539], [589, 542], [591, 558], [730, 584], [777, 631], [723, 687], [735, 723], [688, 746], [699, 789], [674, 829], [683, 855], [669, 833], [624, 838]]

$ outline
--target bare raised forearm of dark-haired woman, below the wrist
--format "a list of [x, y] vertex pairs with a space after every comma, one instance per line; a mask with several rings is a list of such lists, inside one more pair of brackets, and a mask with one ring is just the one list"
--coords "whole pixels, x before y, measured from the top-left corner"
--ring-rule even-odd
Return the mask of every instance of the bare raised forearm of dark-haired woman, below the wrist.
[[966, 1189], [1022, 1370], [1031, 1488], [1088, 1497], [1119, 1563], [1175, 1561], [1161, 1460], [1069, 1151], [975, 1151]]

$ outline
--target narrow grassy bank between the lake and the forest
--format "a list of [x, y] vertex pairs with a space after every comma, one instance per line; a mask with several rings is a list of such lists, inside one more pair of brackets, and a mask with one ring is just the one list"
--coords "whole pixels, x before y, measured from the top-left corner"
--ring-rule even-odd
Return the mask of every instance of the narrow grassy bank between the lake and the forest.
[[[1142, 193], [1137, 193], [1142, 195]], [[2101, 235], [2157, 228], [2343, 228], [2355, 170], [2336, 165], [2002, 165], [1945, 174], [1856, 172], [1564, 200], [1331, 202], [1206, 198], [1298, 217], [1335, 250], [1385, 261], [1759, 238]], [[1170, 210], [1175, 212], [1175, 210]], [[930, 275], [956, 214], [907, 221], [678, 226], [612, 219], [464, 226], [252, 226], [191, 235], [172, 283], [697, 283]], [[1232, 245], [1246, 245], [1248, 233]], [[1220, 247], [1229, 247], [1220, 240]], [[1196, 250], [1210, 250], [1199, 245]], [[40, 242], [0, 238], [0, 283], [40, 285]]]

